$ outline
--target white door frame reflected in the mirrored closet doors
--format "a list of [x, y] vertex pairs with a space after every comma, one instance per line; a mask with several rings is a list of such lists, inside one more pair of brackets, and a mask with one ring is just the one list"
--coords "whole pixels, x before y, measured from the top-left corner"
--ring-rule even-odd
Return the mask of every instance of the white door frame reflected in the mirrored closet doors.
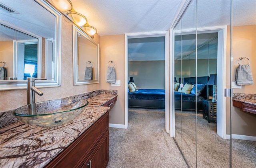
[[[227, 26], [215, 26], [215, 27], [203, 27], [197, 28], [196, 31], [199, 33], [218, 33], [218, 53], [217, 53], [217, 134], [223, 139], [227, 139], [226, 137], [226, 98], [224, 97], [224, 89], [226, 88], [226, 45], [227, 45]], [[195, 29], [185, 29], [182, 32], [186, 33], [196, 33]], [[198, 33], [198, 32], [197, 32]], [[170, 38], [170, 53], [172, 53], [172, 76], [170, 77], [170, 83], [173, 82], [174, 78], [174, 35], [175, 32], [172, 31], [172, 38]], [[174, 86], [170, 87], [174, 90]], [[172, 109], [170, 111], [170, 121], [172, 124], [170, 125], [170, 136], [175, 137], [175, 109], [174, 109], [174, 92], [170, 93]]]

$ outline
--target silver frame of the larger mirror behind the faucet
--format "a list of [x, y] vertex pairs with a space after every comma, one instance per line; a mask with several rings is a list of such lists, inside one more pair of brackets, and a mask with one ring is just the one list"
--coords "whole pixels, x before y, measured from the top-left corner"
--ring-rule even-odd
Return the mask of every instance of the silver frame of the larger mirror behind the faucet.
[[[61, 19], [62, 14], [54, 9], [44, 0], [34, 0], [43, 8], [52, 13], [56, 18], [55, 26], [55, 74], [54, 80], [37, 80], [35, 86], [38, 88], [50, 88], [61, 86]], [[27, 80], [0, 80], [0, 91], [3, 90], [22, 90], [27, 88]]]

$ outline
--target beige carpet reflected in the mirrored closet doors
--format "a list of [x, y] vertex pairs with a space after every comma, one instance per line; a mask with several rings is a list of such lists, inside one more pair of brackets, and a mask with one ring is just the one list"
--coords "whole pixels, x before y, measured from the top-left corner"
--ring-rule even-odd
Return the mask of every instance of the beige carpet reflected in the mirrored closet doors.
[[[175, 119], [175, 140], [191, 168], [196, 167], [196, 163], [198, 168], [230, 167], [230, 140], [217, 135], [216, 123], [208, 123], [198, 114], [196, 130], [195, 113], [176, 112]], [[232, 139], [232, 168], [256, 168], [255, 156], [256, 141]]]

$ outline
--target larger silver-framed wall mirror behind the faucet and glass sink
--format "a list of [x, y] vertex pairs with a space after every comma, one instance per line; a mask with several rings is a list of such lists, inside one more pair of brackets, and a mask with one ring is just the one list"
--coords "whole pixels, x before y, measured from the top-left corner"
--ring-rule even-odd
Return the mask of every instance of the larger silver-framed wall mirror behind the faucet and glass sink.
[[61, 14], [44, 0], [0, 4], [0, 90], [26, 89], [26, 77], [38, 88], [60, 86]]

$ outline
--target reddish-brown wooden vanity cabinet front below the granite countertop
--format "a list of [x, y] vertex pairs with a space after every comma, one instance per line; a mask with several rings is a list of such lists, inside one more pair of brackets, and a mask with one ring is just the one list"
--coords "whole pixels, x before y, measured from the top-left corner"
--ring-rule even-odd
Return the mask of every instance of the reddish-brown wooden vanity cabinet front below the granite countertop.
[[108, 164], [108, 112], [66, 147], [46, 168], [106, 168]]

